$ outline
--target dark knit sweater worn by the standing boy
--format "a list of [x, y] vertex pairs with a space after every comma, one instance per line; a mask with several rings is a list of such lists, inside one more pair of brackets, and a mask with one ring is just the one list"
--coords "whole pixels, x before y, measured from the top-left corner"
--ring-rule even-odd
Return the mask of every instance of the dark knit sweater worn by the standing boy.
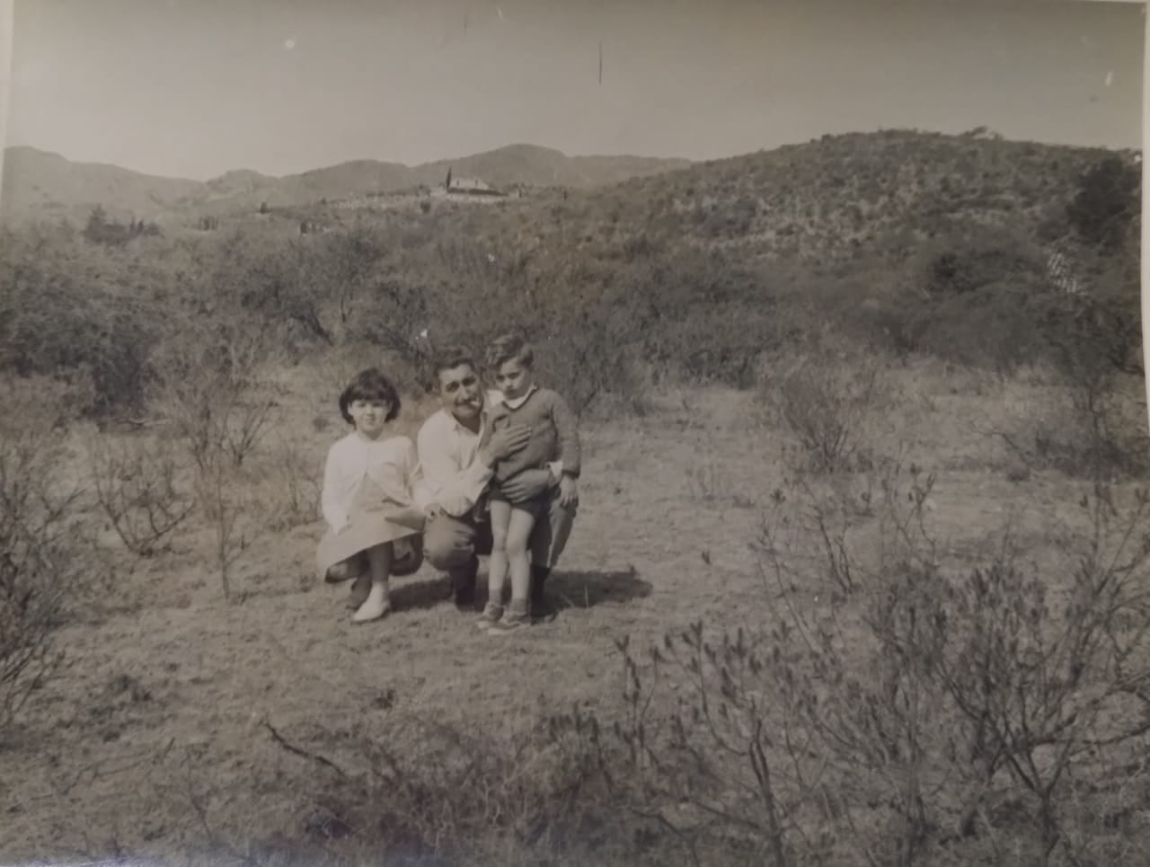
[[562, 397], [551, 389], [535, 389], [516, 407], [500, 401], [491, 408], [489, 430], [512, 424], [527, 424], [531, 437], [527, 445], [498, 461], [494, 481], [506, 482], [524, 469], [537, 469], [561, 460], [564, 474], [578, 478], [580, 440], [575, 413]]

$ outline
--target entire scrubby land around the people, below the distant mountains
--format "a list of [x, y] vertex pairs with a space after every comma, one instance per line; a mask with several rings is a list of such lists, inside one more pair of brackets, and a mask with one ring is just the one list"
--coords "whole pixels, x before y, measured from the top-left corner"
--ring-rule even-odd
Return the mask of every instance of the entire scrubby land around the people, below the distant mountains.
[[[492, 207], [7, 231], [0, 854], [1129, 860], [1136, 174], [885, 131]], [[560, 619], [496, 650], [424, 570], [342, 630], [339, 388], [384, 363], [412, 434], [435, 347], [512, 325], [586, 431]], [[118, 607], [60, 642], [105, 557]]]

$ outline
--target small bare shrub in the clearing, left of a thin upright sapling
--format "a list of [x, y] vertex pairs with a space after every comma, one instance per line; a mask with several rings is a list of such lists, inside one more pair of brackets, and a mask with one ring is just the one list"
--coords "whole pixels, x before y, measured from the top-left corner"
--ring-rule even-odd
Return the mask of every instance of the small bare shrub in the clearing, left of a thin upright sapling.
[[194, 498], [181, 490], [183, 466], [171, 439], [161, 435], [117, 443], [95, 436], [87, 455], [97, 502], [124, 546], [138, 557], [164, 550], [195, 507]]

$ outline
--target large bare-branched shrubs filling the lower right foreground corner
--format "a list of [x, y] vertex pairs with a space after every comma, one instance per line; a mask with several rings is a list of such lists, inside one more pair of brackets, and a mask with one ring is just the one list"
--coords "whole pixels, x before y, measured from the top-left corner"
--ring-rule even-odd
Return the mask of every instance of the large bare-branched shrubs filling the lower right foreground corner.
[[1106, 816], [1136, 803], [1113, 767], [1147, 782], [1150, 497], [1096, 489], [1059, 542], [1065, 568], [1040, 573], [1009, 532], [981, 562], [944, 557], [929, 477], [881, 488], [871, 532], [816, 570], [816, 532], [770, 530], [795, 514], [776, 498], [759, 545], [770, 622], [695, 622], [649, 653], [621, 642], [623, 712], [576, 708], [558, 730], [583, 732], [613, 803], [696, 862], [1132, 854]]

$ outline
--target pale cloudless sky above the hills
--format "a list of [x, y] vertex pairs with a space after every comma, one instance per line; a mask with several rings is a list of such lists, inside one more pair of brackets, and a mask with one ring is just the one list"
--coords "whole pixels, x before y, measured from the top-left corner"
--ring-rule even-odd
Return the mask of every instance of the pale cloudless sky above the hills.
[[[7, 144], [208, 179], [509, 144], [719, 159], [984, 125], [1141, 147], [1143, 6], [15, 0]], [[601, 82], [599, 56], [601, 45]]]

